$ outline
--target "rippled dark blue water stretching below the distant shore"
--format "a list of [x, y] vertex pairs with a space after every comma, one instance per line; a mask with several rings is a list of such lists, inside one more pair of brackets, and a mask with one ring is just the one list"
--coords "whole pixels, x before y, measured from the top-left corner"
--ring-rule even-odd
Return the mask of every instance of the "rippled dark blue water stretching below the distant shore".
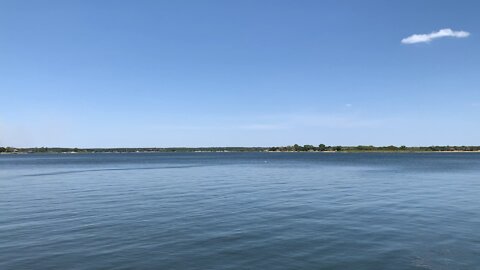
[[480, 154], [2, 155], [0, 269], [480, 269]]

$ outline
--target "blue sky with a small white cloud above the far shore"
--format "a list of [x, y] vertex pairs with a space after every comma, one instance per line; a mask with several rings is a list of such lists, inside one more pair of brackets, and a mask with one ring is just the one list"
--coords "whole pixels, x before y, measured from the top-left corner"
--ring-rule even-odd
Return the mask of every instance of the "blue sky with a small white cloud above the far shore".
[[480, 145], [479, 11], [3, 0], [0, 145]]

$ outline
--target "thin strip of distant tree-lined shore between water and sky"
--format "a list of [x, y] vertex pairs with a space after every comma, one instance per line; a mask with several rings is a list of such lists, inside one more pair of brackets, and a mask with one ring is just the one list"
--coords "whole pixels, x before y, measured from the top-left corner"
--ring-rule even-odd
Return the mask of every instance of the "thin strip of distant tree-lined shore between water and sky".
[[326, 152], [326, 153], [381, 153], [381, 152], [480, 152], [480, 146], [327, 146], [290, 145], [273, 147], [142, 147], [142, 148], [64, 148], [34, 147], [16, 148], [0, 147], [0, 154], [35, 154], [35, 153], [195, 153], [195, 152]]

